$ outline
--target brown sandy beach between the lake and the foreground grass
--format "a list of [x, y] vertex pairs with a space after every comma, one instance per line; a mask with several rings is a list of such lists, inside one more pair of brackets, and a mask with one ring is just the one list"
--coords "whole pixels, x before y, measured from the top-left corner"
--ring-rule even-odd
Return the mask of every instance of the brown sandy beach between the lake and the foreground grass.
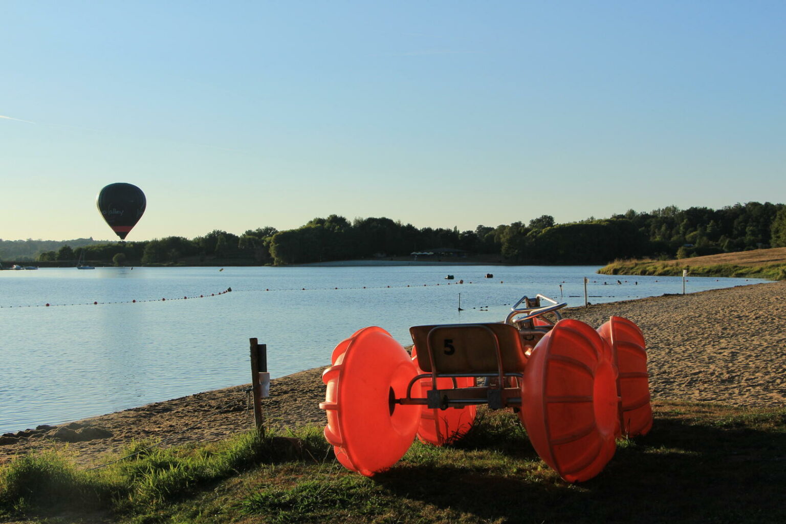
[[[786, 406], [786, 282], [571, 308], [564, 317], [597, 328], [611, 315], [644, 332], [653, 399]], [[502, 319], [500, 319], [502, 320]], [[360, 327], [360, 326], [358, 326]], [[347, 336], [351, 335], [347, 333]], [[338, 340], [325, 341], [325, 365]], [[273, 381], [264, 409], [271, 427], [325, 423], [325, 387], [314, 368]], [[207, 442], [253, 427], [248, 385], [207, 391], [0, 437], [0, 464], [46, 447], [80, 464], [101, 464], [131, 439]]]

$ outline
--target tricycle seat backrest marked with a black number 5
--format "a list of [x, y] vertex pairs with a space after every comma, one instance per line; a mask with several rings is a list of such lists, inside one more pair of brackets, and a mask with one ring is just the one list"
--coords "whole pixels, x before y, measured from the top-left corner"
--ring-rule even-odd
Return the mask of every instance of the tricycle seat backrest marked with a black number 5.
[[437, 324], [410, 328], [417, 364], [431, 372], [431, 344], [438, 373], [496, 373], [499, 344], [504, 372], [523, 372], [526, 362], [518, 330], [510, 324]]

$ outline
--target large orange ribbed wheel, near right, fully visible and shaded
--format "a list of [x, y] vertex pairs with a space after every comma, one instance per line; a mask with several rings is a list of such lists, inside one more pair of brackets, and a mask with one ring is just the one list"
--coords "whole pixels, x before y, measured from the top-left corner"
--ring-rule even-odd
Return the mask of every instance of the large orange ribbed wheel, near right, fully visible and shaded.
[[519, 416], [538, 455], [567, 482], [601, 472], [616, 450], [619, 397], [611, 350], [580, 321], [563, 319], [527, 362]]

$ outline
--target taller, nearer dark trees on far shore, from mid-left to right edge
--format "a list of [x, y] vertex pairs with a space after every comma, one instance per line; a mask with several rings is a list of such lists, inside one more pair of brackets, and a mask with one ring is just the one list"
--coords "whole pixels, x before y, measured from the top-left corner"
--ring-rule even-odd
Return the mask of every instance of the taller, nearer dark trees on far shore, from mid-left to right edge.
[[[783, 204], [750, 202], [712, 210], [670, 206], [651, 213], [629, 210], [610, 219], [555, 224], [532, 218], [475, 231], [416, 229], [388, 218], [314, 218], [299, 229], [277, 233], [270, 255], [277, 264], [404, 256], [436, 247], [498, 253], [519, 264], [604, 264], [615, 258], [674, 258], [767, 247], [770, 225]], [[340, 219], [340, 225], [332, 226]], [[786, 222], [786, 218], [784, 218]], [[783, 228], [786, 231], [786, 225]], [[780, 232], [780, 229], [777, 229]], [[786, 243], [786, 233], [784, 233]]]

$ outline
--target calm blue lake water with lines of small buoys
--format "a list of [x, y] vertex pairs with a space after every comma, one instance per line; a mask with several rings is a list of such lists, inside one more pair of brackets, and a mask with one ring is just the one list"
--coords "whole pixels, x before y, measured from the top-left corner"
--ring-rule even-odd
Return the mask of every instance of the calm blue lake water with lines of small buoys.
[[[682, 292], [681, 277], [619, 277], [623, 284], [617, 284], [617, 277], [597, 275], [596, 270], [307, 266], [0, 271], [0, 434], [248, 383], [252, 337], [267, 344], [268, 368], [278, 377], [329, 365], [332, 348], [368, 325], [387, 329], [407, 345], [411, 325], [501, 321], [522, 295], [560, 299], [560, 285], [562, 300], [581, 306], [584, 277], [590, 280], [590, 302]], [[487, 273], [494, 277], [484, 278]], [[445, 280], [447, 274], [454, 280]], [[458, 284], [461, 279], [464, 284]], [[691, 277], [687, 291], [762, 281]], [[227, 288], [232, 291], [222, 293]]]

